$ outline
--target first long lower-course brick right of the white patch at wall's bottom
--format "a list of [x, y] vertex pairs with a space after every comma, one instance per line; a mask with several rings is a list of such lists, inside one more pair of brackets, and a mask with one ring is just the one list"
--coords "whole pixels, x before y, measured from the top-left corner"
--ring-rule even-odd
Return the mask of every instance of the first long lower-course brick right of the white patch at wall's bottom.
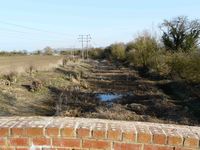
[[52, 140], [52, 145], [59, 147], [80, 147], [81, 141], [79, 139], [55, 138]]

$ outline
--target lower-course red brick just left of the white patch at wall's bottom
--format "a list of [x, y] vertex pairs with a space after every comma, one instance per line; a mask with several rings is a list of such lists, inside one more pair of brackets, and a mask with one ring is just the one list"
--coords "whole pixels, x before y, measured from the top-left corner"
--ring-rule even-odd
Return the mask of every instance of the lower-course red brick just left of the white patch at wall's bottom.
[[28, 146], [28, 138], [10, 138], [9, 145], [11, 146]]

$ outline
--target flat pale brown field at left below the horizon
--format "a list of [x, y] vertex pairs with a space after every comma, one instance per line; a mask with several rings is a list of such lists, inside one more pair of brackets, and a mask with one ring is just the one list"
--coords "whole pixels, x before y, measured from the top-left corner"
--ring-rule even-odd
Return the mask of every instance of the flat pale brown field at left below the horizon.
[[62, 64], [62, 56], [0, 56], [0, 74], [22, 73], [30, 67], [49, 70]]

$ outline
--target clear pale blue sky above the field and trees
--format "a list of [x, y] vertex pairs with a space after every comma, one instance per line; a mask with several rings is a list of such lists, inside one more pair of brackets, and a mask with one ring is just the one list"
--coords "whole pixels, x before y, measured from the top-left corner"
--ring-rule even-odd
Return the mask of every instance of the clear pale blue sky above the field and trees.
[[80, 47], [79, 34], [91, 34], [92, 46], [106, 46], [131, 41], [145, 29], [156, 30], [164, 19], [179, 15], [200, 18], [199, 0], [0, 2], [0, 50]]

